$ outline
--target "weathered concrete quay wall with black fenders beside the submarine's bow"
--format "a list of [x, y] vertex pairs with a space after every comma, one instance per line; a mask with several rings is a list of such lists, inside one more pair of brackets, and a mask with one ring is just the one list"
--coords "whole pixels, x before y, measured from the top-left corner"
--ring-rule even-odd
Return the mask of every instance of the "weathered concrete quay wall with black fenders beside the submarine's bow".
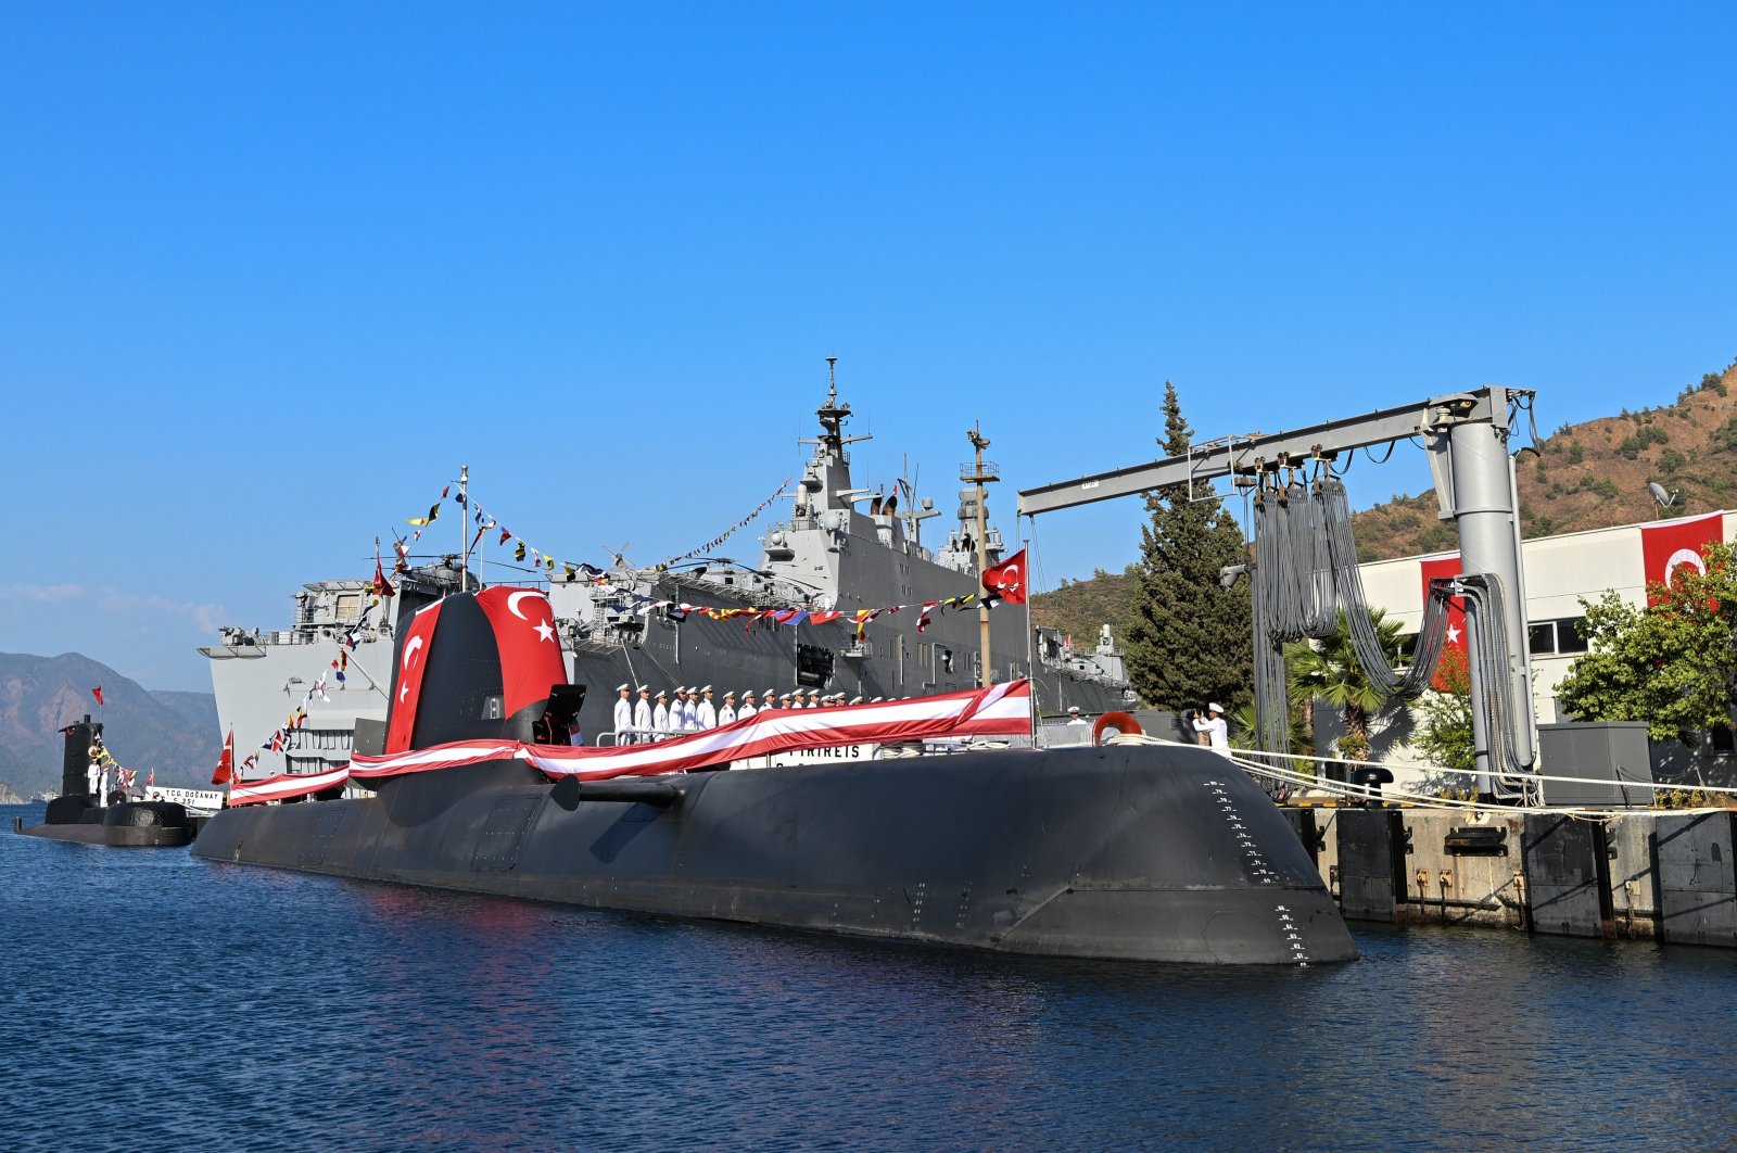
[[1737, 948], [1737, 811], [1285, 806], [1346, 920]]

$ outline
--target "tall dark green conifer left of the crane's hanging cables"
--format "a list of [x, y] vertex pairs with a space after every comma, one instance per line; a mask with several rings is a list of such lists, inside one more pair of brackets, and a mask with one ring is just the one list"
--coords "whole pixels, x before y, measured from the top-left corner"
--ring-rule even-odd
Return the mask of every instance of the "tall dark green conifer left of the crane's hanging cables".
[[[1164, 382], [1164, 453], [1181, 457], [1193, 436], [1176, 385]], [[1247, 561], [1242, 530], [1218, 497], [1188, 484], [1146, 493], [1152, 521], [1139, 533], [1127, 670], [1157, 708], [1235, 708], [1254, 695], [1249, 582], [1219, 585], [1219, 570]]]

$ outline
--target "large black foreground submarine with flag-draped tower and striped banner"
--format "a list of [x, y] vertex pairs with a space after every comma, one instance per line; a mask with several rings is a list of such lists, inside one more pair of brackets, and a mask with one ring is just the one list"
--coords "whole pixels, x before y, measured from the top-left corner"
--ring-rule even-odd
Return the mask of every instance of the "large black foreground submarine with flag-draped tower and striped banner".
[[[193, 854], [1004, 953], [1357, 959], [1284, 816], [1207, 748], [917, 743], [1028, 731], [1023, 682], [571, 747], [584, 686], [566, 682], [549, 616], [540, 592], [493, 587], [401, 622], [380, 750], [349, 769], [372, 792], [330, 799], [332, 781], [318, 781], [294, 797], [274, 778], [255, 794], [271, 802], [236, 804], [238, 787]], [[1016, 705], [1025, 715], [1009, 721]], [[865, 735], [924, 752], [783, 766], [745, 755], [863, 748]], [[731, 768], [743, 764], [763, 768]]]

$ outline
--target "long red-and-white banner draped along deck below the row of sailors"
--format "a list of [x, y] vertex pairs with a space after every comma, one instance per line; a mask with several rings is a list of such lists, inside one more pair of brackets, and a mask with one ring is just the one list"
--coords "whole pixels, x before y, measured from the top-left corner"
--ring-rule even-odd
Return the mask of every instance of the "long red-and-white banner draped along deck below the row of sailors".
[[653, 745], [573, 748], [568, 745], [523, 745], [519, 741], [453, 741], [380, 757], [358, 755], [351, 762], [356, 780], [379, 780], [426, 773], [460, 764], [528, 761], [545, 776], [653, 776], [703, 769], [792, 748], [835, 748], [841, 745], [886, 745], [891, 741], [945, 740], [968, 736], [1020, 736], [1032, 731], [1032, 682], [1007, 681], [987, 689], [919, 696], [875, 705], [830, 708], [769, 708], [717, 729], [676, 736]]

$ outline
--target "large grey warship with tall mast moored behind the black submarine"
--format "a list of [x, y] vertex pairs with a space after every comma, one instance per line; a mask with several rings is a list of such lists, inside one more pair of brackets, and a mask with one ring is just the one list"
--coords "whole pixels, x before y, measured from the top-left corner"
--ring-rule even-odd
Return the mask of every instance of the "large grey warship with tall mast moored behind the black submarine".
[[[757, 564], [705, 556], [634, 566], [617, 557], [608, 570], [558, 573], [537, 583], [554, 608], [571, 682], [591, 689], [578, 717], [587, 741], [613, 740], [611, 689], [620, 682], [646, 684], [653, 693], [710, 684], [719, 700], [728, 689], [768, 688], [863, 700], [928, 696], [980, 682], [974, 608], [936, 613], [921, 632], [914, 608], [882, 615], [860, 634], [851, 615], [978, 592], [978, 545], [990, 564], [1006, 552], [999, 530], [976, 540], [981, 486], [961, 491], [957, 524], [940, 549], [929, 549], [922, 524], [941, 516], [931, 498], [908, 483], [891, 493], [855, 484], [849, 446], [870, 438], [846, 434], [851, 406], [839, 403], [835, 380], [829, 379], [815, 415], [820, 434], [799, 441], [811, 451], [794, 493], [785, 495], [789, 516], [763, 533]], [[511, 580], [521, 582], [525, 573], [512, 571]], [[398, 573], [394, 583], [398, 594], [377, 604], [370, 604], [368, 580], [307, 583], [295, 594], [288, 629], [226, 627], [219, 644], [200, 649], [212, 662], [221, 729], [234, 731], [240, 752], [302, 714], [285, 733], [283, 748], [254, 754], [250, 778], [325, 773], [353, 750], [379, 752], [398, 622], [445, 596], [481, 587], [472, 557], [459, 554], [429, 557]], [[648, 601], [665, 604], [646, 613]], [[839, 611], [842, 618], [799, 627], [768, 622], [749, 630], [740, 620], [684, 613], [683, 604]], [[990, 615], [995, 681], [1030, 677], [1035, 708], [1047, 715], [1075, 705], [1087, 715], [1133, 707], [1136, 696], [1108, 627], [1091, 649], [1075, 651], [1056, 630], [1028, 636], [1027, 620], [1018, 606]], [[342, 644], [346, 637], [354, 646]]]

